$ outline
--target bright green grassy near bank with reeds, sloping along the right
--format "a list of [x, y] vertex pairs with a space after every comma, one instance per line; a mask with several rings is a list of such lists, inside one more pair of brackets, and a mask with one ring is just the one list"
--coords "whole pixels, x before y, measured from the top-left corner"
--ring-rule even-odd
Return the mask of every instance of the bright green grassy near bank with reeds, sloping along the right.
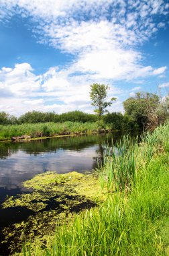
[[24, 243], [23, 255], [168, 255], [168, 162], [169, 124], [139, 145], [125, 138], [101, 172], [107, 200], [58, 222], [47, 245]]

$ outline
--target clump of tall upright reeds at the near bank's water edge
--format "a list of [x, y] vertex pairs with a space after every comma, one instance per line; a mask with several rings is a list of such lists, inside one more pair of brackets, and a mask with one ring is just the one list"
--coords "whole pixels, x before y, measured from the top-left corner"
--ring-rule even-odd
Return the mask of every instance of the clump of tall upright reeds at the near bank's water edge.
[[137, 137], [124, 135], [115, 143], [113, 148], [105, 150], [105, 172], [109, 190], [115, 187], [115, 191], [127, 191], [135, 182], [135, 159], [137, 157]]

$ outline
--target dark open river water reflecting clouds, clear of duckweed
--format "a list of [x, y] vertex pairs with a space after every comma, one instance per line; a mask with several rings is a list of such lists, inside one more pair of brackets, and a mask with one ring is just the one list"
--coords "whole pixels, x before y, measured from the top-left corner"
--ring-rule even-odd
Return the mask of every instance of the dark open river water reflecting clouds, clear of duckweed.
[[[27, 142], [0, 142], [0, 204], [7, 195], [25, 193], [21, 183], [48, 170], [66, 173], [93, 170], [101, 162], [105, 144], [121, 133], [78, 135]], [[0, 229], [32, 214], [24, 207], [1, 209]], [[0, 252], [1, 255], [1, 252]], [[3, 253], [5, 255], [5, 253]]]

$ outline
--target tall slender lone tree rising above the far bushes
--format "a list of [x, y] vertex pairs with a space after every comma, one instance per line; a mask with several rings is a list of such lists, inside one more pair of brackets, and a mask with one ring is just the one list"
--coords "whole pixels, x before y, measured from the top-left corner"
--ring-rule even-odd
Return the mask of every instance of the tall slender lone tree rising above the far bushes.
[[90, 97], [93, 106], [96, 106], [95, 112], [101, 117], [107, 110], [107, 106], [111, 106], [112, 101], [115, 101], [116, 98], [111, 98], [111, 101], [106, 101], [107, 98], [107, 90], [109, 90], [108, 86], [105, 84], [92, 84]]

